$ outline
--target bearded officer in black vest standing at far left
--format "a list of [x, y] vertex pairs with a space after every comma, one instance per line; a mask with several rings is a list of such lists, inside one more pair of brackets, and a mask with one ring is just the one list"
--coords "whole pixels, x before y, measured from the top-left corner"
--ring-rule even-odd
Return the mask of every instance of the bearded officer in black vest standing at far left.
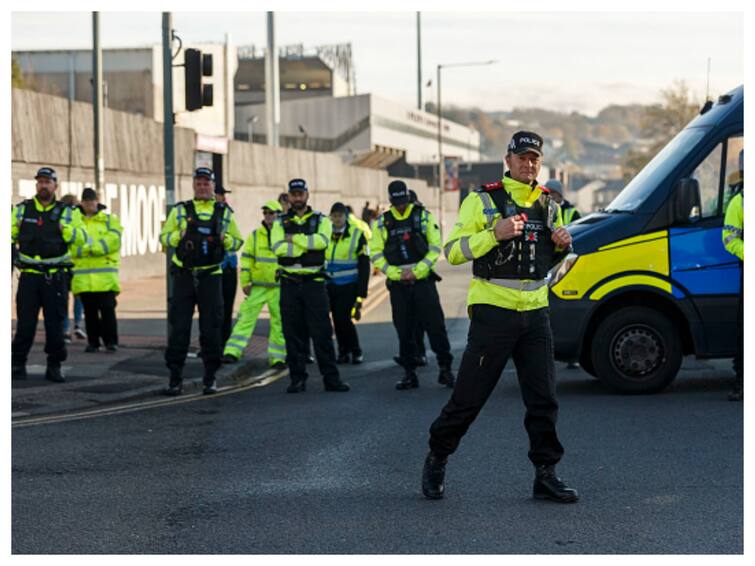
[[16, 334], [11, 345], [11, 377], [26, 379], [26, 360], [34, 343], [39, 309], [45, 317], [45, 378], [65, 381], [60, 365], [67, 357], [63, 321], [68, 302], [70, 246], [86, 242], [81, 212], [55, 200], [58, 177], [52, 167], [35, 176], [37, 194], [13, 207], [11, 241], [21, 275], [16, 293]]

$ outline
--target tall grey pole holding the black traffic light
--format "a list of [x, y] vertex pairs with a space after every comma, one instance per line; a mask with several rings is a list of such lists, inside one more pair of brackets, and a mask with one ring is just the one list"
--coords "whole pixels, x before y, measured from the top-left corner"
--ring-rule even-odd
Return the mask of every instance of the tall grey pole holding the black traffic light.
[[[170, 12], [163, 12], [163, 160], [165, 162], [165, 218], [176, 204], [176, 159], [173, 141], [173, 16]], [[170, 277], [170, 265], [173, 261], [172, 248], [165, 250], [167, 264], [165, 275], [167, 279], [168, 309], [173, 298], [173, 280]], [[166, 310], [166, 313], [169, 312]], [[167, 318], [166, 318], [167, 320]], [[170, 322], [167, 322], [170, 335]]]

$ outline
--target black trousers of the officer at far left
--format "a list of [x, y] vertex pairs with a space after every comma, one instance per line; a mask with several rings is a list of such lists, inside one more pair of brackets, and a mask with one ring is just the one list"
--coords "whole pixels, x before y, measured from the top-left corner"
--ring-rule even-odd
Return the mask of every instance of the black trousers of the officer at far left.
[[68, 353], [63, 339], [66, 318], [68, 274], [21, 273], [16, 292], [16, 334], [11, 344], [11, 363], [26, 365], [37, 332], [39, 309], [45, 317], [45, 353], [47, 365], [60, 367]]

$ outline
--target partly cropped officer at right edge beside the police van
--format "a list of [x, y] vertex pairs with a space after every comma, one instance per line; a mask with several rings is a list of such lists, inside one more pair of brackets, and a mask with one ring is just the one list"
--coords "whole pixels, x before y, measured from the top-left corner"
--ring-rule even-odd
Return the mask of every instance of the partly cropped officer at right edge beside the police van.
[[737, 306], [737, 351], [734, 355], [735, 378], [729, 392], [730, 401], [741, 401], [744, 397], [744, 150], [739, 153], [739, 171], [741, 174], [733, 186], [734, 196], [726, 207], [724, 228], [721, 234], [724, 247], [739, 259], [741, 267]]

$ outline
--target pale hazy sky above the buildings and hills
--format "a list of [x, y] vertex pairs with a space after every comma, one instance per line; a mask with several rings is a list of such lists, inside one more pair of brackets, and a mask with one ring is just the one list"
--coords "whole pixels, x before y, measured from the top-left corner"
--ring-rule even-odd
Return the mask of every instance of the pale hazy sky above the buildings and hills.
[[[126, 47], [160, 41], [160, 15], [102, 14], [103, 45]], [[21, 13], [11, 19], [13, 49], [88, 48], [88, 12]], [[705, 93], [707, 58], [711, 92], [744, 81], [741, 13], [433, 13], [422, 15], [423, 76], [438, 63], [498, 59], [490, 67], [443, 73], [444, 103], [485, 110], [541, 106], [595, 113], [612, 104], [648, 103], [683, 79]], [[264, 45], [263, 12], [175, 12], [186, 41]], [[351, 42], [359, 92], [416, 104], [414, 12], [279, 12], [280, 44]], [[428, 89], [424, 96], [435, 99]]]

